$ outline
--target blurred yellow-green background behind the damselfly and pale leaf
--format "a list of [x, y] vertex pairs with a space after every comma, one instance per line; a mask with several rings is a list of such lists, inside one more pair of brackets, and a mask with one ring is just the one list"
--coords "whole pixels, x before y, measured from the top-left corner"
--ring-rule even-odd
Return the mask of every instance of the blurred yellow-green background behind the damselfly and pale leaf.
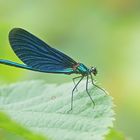
[[[8, 42], [14, 27], [28, 30], [78, 62], [96, 66], [96, 79], [114, 97], [115, 128], [139, 140], [139, 0], [0, 0], [0, 58], [21, 63]], [[0, 65], [0, 83], [62, 83], [72, 77]]]

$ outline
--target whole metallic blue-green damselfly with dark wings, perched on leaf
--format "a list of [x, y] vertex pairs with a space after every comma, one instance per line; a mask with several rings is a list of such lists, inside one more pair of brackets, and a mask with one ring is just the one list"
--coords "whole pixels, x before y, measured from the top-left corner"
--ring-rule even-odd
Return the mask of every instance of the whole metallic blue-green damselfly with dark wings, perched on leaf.
[[[95, 104], [88, 92], [89, 76], [91, 77], [92, 84], [98, 87], [94, 84], [92, 78], [92, 74], [97, 74], [95, 67], [89, 69], [84, 64], [77, 63], [68, 55], [50, 47], [44, 41], [21, 28], [14, 28], [10, 31], [9, 42], [15, 54], [24, 64], [0, 59], [1, 64], [45, 73], [80, 74], [80, 76], [76, 77], [80, 78], [80, 80], [72, 90], [71, 110], [73, 106], [73, 93], [84, 77], [87, 77], [86, 91], [93, 104]], [[73, 78], [73, 81], [76, 78]]]

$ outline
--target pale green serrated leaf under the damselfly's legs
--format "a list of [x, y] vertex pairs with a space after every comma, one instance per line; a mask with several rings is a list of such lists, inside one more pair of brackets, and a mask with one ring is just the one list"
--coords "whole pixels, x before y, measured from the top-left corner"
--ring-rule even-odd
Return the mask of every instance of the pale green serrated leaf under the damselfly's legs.
[[102, 140], [113, 126], [112, 97], [89, 83], [95, 107], [85, 91], [85, 81], [74, 93], [73, 83], [46, 84], [27, 81], [0, 87], [0, 108], [12, 119], [53, 140]]

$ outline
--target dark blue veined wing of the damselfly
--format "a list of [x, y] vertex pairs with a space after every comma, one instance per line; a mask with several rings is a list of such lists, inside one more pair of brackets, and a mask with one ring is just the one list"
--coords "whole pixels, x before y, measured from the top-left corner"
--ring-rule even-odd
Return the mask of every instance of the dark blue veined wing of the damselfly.
[[14, 28], [9, 41], [16, 55], [34, 70], [50, 73], [72, 73], [77, 64], [72, 58], [50, 47], [31, 33]]

